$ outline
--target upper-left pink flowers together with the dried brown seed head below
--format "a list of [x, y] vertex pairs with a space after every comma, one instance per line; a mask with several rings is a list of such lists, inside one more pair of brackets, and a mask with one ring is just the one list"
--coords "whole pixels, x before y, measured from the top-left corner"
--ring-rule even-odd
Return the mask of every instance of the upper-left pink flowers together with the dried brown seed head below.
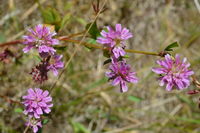
[[27, 53], [32, 48], [36, 48], [42, 61], [39, 65], [32, 68], [30, 73], [33, 76], [33, 80], [42, 83], [48, 79], [48, 71], [53, 71], [54, 75], [58, 75], [58, 69], [64, 67], [61, 61], [62, 55], [57, 55], [54, 45], [59, 44], [59, 40], [53, 38], [56, 35], [55, 31], [48, 26], [39, 24], [33, 29], [28, 29], [29, 34], [23, 36], [23, 44], [27, 45], [23, 52]]

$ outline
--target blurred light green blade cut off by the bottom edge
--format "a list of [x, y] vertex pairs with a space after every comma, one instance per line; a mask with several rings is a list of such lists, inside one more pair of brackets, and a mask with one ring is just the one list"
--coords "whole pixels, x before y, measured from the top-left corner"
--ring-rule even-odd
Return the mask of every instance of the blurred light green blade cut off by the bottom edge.
[[90, 133], [90, 131], [81, 123], [79, 122], [71, 122], [74, 133]]

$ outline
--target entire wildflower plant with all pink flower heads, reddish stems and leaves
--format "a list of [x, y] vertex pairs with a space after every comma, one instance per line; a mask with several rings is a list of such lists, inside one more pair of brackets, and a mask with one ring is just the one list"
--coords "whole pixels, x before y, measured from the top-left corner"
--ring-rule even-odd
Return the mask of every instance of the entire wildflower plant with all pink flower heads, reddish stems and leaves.
[[[93, 5], [93, 8], [95, 14], [102, 13], [99, 5]], [[105, 10], [105, 8], [103, 9]], [[55, 10], [49, 11], [54, 14], [55, 18], [61, 18], [61, 16], [57, 16], [58, 13]], [[167, 91], [172, 91], [173, 89], [187, 89], [191, 85], [191, 79], [198, 88], [200, 86], [200, 83], [192, 77], [195, 72], [190, 68], [190, 63], [187, 61], [186, 57], [181, 59], [179, 54], [176, 54], [175, 57], [172, 56], [174, 54], [172, 53], [173, 49], [178, 47], [177, 42], [168, 45], [163, 51], [158, 53], [126, 49], [128, 39], [133, 37], [132, 31], [128, 28], [124, 28], [122, 24], [116, 24], [114, 28], [112, 28], [112, 26], [106, 26], [106, 28], [100, 31], [96, 19], [86, 26], [86, 31], [81, 32], [81, 34], [84, 33], [82, 40], [73, 40], [70, 37], [77, 34], [72, 34], [67, 37], [58, 36], [56, 31], [59, 31], [58, 27], [62, 27], [61, 24], [64, 22], [61, 22], [60, 19], [58, 19], [59, 21], [53, 20], [54, 18], [52, 18], [51, 23], [44, 21], [51, 26], [38, 24], [32, 29], [28, 29], [27, 34], [22, 37], [22, 40], [6, 43], [6, 45], [21, 43], [24, 46], [21, 51], [26, 54], [31, 54], [29, 51], [35, 49], [36, 54], [40, 57], [40, 63], [32, 68], [30, 74], [32, 75], [33, 81], [38, 86], [49, 79], [48, 73], [50, 71], [54, 76], [58, 77], [57, 80], [59, 80], [66, 69], [66, 62], [62, 61], [62, 59], [65, 58], [64, 55], [66, 51], [63, 50], [63, 53], [58, 53], [56, 51], [57, 46], [66, 47], [62, 44], [64, 41], [78, 43], [87, 48], [97, 48], [107, 53], [108, 55], [105, 56], [107, 60], [104, 64], [108, 64], [108, 68], [106, 68], [108, 70], [106, 70], [105, 76], [108, 78], [108, 81], [111, 82], [112, 86], [119, 86], [120, 92], [122, 93], [128, 91], [128, 84], [136, 84], [140, 79], [137, 76], [137, 70], [133, 70], [132, 64], [127, 63], [129, 60], [129, 58], [127, 58], [127, 53], [159, 57], [156, 61], [158, 67], [153, 67], [152, 71], [159, 75], [159, 85], [166, 86], [165, 89]], [[55, 27], [56, 31], [52, 27]], [[80, 35], [80, 33], [78, 35]], [[86, 37], [86, 35], [89, 36], [89, 39], [93, 39], [95, 43], [90, 44], [84, 42], [84, 37]], [[0, 46], [4, 45], [5, 44], [2, 44]], [[9, 49], [0, 53], [0, 61], [5, 62], [8, 57], [14, 57], [14, 54]], [[60, 72], [60, 70], [62, 72]], [[57, 81], [55, 81], [54, 85], [56, 82]], [[28, 117], [26, 126], [32, 128], [34, 133], [42, 128], [44, 115], [51, 112], [53, 99], [50, 93], [54, 85], [48, 90], [42, 90], [40, 87], [29, 88], [27, 94], [22, 96], [24, 114]], [[199, 92], [200, 91], [190, 91], [189, 94], [196, 94]]]

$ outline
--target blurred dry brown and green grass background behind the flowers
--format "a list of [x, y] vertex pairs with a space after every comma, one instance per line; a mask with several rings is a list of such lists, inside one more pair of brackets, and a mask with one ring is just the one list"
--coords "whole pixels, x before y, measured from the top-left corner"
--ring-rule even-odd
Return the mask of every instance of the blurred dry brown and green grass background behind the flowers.
[[[62, 28], [58, 35], [82, 32], [95, 18], [92, 0], [0, 0], [0, 43], [20, 39], [26, 29], [46, 23], [45, 11], [55, 9]], [[102, 6], [104, 0], [100, 0]], [[39, 5], [39, 6], [38, 6]], [[135, 50], [159, 52], [170, 43], [180, 46], [172, 54], [187, 57], [197, 78], [200, 78], [200, 12], [193, 0], [107, 0], [106, 10], [99, 15], [97, 25], [121, 23], [133, 33], [127, 47]], [[89, 35], [87, 35], [89, 36]], [[74, 37], [81, 40], [82, 37]], [[87, 37], [84, 41], [94, 40]], [[58, 50], [69, 62], [75, 44], [62, 42], [66, 48]], [[156, 56], [128, 54], [128, 63], [137, 72], [138, 84], [129, 84], [129, 91], [119, 93], [104, 76], [106, 57], [101, 50], [78, 46], [76, 55], [52, 91], [54, 107], [45, 119], [43, 133], [199, 133], [199, 96], [187, 91], [171, 92], [160, 87], [156, 74]], [[49, 73], [42, 85], [34, 83], [29, 74], [38, 64], [37, 52], [23, 54], [21, 44], [8, 48], [15, 57], [0, 62], [0, 132], [21, 133], [26, 116], [21, 101], [28, 88], [49, 89], [57, 80]], [[28, 132], [32, 132], [29, 130]]]

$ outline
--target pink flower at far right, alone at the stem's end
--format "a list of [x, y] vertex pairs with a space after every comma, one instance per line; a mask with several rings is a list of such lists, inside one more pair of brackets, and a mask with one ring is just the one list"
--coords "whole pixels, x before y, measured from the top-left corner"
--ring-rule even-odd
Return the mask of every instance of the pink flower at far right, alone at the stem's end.
[[177, 54], [175, 59], [169, 54], [165, 55], [164, 60], [158, 60], [157, 64], [161, 67], [153, 68], [152, 71], [160, 74], [160, 86], [166, 84], [166, 90], [171, 91], [173, 87], [177, 87], [182, 90], [190, 85], [190, 76], [194, 74], [192, 70], [189, 70], [190, 63], [187, 63], [187, 59], [180, 59]]

